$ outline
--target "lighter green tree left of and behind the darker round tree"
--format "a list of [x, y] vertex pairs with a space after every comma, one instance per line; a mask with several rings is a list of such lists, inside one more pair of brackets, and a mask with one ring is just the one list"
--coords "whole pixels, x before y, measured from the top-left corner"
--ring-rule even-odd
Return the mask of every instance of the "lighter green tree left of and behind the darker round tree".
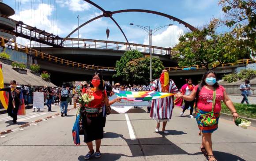
[[121, 57], [120, 60], [116, 62], [116, 74], [113, 75], [113, 78], [118, 78], [124, 76], [123, 70], [126, 67], [126, 64], [133, 60], [142, 58], [143, 54], [137, 50], [124, 52], [124, 56]]

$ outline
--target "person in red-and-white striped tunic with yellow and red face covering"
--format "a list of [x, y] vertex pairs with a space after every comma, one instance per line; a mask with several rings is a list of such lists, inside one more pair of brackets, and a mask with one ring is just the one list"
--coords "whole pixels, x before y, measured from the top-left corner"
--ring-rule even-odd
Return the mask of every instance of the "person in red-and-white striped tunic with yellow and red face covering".
[[[169, 79], [169, 74], [166, 69], [162, 70], [160, 79], [156, 79], [151, 86], [151, 90], [165, 93], [176, 94], [178, 89], [172, 79]], [[159, 132], [160, 122], [163, 122], [162, 131], [165, 134], [166, 124], [171, 119], [174, 108], [174, 96], [164, 97], [152, 101], [150, 117], [157, 121], [155, 132]]]

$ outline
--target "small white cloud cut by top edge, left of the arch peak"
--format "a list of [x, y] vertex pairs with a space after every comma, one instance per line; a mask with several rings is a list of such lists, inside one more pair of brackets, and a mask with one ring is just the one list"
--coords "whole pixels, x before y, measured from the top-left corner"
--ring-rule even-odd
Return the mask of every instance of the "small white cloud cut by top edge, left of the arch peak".
[[86, 11], [91, 8], [91, 5], [83, 0], [57, 0], [60, 7], [68, 7], [71, 11]]

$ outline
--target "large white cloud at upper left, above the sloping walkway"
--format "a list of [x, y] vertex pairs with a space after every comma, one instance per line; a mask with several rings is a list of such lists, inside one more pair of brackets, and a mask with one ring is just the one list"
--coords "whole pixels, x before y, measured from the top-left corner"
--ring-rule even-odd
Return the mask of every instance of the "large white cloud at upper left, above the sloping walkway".
[[49, 4], [40, 4], [35, 10], [23, 10], [11, 16], [11, 19], [23, 21], [30, 26], [36, 26], [38, 29], [45, 30], [53, 34], [62, 34], [63, 31], [57, 26], [56, 20], [51, 20], [53, 6]]

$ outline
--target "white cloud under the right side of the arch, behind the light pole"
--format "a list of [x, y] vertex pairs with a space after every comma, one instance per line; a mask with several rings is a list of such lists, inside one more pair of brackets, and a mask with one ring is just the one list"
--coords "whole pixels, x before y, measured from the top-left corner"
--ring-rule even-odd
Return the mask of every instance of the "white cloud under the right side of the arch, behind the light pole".
[[[166, 48], [173, 47], [178, 43], [178, 38], [182, 34], [184, 34], [184, 31], [180, 29], [178, 26], [169, 26], [162, 33], [152, 35], [152, 45]], [[143, 44], [149, 45], [148, 36], [145, 37]]]

